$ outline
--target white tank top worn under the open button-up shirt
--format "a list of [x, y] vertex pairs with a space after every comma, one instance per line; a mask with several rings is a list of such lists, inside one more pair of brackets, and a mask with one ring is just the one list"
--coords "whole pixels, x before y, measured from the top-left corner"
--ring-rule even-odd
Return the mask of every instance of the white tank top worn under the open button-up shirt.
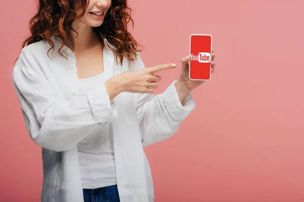
[[[80, 94], [103, 83], [103, 73], [79, 79]], [[93, 189], [117, 184], [112, 124], [98, 126], [78, 143], [83, 188]]]

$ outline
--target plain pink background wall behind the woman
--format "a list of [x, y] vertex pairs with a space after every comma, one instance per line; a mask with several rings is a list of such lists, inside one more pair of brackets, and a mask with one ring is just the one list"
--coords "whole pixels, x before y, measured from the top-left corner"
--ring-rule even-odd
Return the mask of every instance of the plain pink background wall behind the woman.
[[[130, 1], [131, 31], [162, 92], [178, 78], [189, 35], [213, 35], [216, 70], [193, 91], [197, 109], [168, 140], [147, 147], [155, 201], [304, 201], [304, 3]], [[0, 200], [40, 201], [41, 149], [27, 134], [12, 86], [33, 0], [0, 7]]]

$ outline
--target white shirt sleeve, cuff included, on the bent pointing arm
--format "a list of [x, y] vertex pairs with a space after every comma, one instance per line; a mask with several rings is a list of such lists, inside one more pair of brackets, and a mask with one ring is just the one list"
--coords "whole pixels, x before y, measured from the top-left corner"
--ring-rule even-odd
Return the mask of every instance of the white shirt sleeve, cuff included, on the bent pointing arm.
[[13, 70], [13, 85], [27, 131], [36, 144], [55, 151], [69, 150], [98, 125], [105, 126], [117, 116], [103, 83], [66, 100], [63, 95], [54, 95], [58, 92], [45, 75], [33, 71], [31, 65], [36, 63], [24, 60]]

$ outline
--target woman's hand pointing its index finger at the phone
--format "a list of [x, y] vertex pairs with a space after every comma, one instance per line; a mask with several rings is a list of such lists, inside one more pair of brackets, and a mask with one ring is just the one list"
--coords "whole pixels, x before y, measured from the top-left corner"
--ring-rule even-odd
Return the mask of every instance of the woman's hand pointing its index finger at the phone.
[[154, 93], [161, 77], [154, 75], [159, 71], [175, 68], [175, 64], [157, 65], [155, 67], [126, 71], [113, 76], [105, 82], [110, 100], [121, 92]]

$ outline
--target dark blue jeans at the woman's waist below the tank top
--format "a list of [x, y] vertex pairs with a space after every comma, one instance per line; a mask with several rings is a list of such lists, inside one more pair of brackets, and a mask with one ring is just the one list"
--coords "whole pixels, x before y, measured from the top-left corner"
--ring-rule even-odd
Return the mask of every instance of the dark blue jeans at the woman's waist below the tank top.
[[117, 185], [83, 191], [85, 202], [120, 202]]

